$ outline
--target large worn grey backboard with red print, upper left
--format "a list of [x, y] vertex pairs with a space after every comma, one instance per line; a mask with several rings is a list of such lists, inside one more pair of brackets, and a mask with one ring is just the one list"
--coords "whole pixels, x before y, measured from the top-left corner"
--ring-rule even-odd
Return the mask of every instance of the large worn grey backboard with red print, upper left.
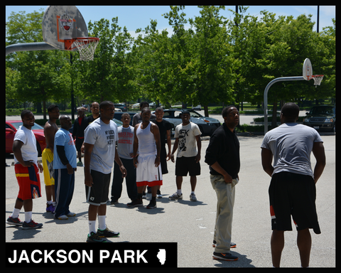
[[76, 6], [48, 6], [42, 26], [45, 43], [60, 50], [67, 50], [65, 40], [88, 36], [87, 24]]

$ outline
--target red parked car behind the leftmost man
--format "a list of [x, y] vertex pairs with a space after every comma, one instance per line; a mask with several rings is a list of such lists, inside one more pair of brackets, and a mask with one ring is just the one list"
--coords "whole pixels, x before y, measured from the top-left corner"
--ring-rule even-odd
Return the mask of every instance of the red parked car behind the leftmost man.
[[[14, 135], [21, 125], [23, 125], [21, 120], [6, 120], [6, 154], [13, 153], [12, 146]], [[46, 148], [44, 128], [35, 122], [32, 131], [37, 140], [38, 156], [41, 156], [41, 152]]]

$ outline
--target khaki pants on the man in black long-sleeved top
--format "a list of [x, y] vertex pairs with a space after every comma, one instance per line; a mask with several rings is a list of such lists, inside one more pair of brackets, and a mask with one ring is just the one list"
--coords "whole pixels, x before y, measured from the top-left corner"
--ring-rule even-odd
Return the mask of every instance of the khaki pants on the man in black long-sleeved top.
[[214, 240], [217, 242], [215, 252], [229, 252], [232, 236], [232, 217], [234, 205], [234, 186], [238, 178], [232, 183], [226, 183], [224, 176], [210, 176], [212, 187], [217, 193], [217, 216], [215, 219]]

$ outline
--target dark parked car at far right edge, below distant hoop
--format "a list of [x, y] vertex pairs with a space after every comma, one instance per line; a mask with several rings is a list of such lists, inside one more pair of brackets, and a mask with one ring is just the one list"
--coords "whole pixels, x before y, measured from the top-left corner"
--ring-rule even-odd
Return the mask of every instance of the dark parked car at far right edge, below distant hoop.
[[303, 124], [316, 130], [336, 131], [336, 109], [330, 105], [317, 105], [305, 113]]

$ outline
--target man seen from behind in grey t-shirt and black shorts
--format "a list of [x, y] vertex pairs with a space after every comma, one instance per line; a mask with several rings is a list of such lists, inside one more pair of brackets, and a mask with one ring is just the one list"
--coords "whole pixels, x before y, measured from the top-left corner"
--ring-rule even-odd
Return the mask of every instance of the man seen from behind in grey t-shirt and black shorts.
[[[281, 126], [267, 132], [261, 144], [262, 166], [271, 176], [269, 199], [274, 267], [279, 267], [281, 262], [284, 231], [292, 230], [291, 216], [298, 231], [297, 245], [302, 267], [309, 266], [309, 228], [320, 234], [315, 208], [315, 183], [325, 168], [325, 149], [315, 129], [296, 123], [299, 111], [298, 105], [293, 102], [283, 105]], [[316, 159], [314, 171], [310, 164], [312, 151]]]

